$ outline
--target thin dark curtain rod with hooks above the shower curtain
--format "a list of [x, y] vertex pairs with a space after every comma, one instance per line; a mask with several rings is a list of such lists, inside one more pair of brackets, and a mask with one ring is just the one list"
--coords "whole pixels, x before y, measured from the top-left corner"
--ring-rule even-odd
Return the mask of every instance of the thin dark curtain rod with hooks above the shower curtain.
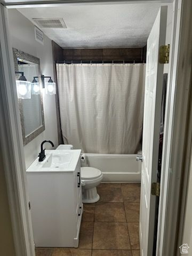
[[63, 61], [55, 61], [55, 63], [59, 63], [59, 64], [99, 64], [99, 63], [112, 63], [112, 64], [121, 64], [121, 63], [146, 63], [146, 61], [138, 61], [138, 60], [133, 60], [133, 61], [123, 61], [123, 60], [103, 60], [103, 61], [99, 61], [99, 60], [63, 60]]

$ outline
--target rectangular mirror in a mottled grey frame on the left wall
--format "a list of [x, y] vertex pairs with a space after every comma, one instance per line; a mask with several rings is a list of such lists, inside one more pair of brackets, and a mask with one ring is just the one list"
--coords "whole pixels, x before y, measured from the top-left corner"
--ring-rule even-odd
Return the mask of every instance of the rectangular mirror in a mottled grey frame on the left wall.
[[[13, 57], [15, 72], [23, 72], [27, 81], [30, 82], [37, 77], [40, 85], [39, 94], [31, 93], [30, 99], [18, 99], [23, 145], [25, 146], [45, 130], [40, 60], [14, 48]], [[19, 76], [19, 74], [15, 74], [15, 79], [18, 79]]]

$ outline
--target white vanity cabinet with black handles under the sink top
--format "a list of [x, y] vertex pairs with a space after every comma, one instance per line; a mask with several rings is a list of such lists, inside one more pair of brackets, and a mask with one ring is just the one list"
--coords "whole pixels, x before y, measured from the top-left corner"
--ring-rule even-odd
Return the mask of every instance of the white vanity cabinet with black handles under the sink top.
[[[81, 150], [79, 156], [80, 153]], [[83, 214], [79, 156], [74, 170], [33, 171], [32, 166], [27, 170], [34, 242], [37, 247], [78, 247]]]

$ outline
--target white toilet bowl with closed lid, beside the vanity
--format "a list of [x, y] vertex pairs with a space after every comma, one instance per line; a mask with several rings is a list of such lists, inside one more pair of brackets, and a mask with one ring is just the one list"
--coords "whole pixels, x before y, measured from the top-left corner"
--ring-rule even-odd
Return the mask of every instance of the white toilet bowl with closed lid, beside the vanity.
[[96, 203], [100, 196], [97, 193], [97, 186], [103, 178], [102, 172], [93, 167], [81, 167], [82, 201], [85, 204]]

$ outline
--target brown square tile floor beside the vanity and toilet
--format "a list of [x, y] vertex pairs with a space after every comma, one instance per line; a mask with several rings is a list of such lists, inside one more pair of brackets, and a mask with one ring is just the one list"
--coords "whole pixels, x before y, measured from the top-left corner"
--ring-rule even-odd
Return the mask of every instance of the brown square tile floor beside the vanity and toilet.
[[36, 256], [139, 256], [139, 183], [102, 183], [84, 204], [79, 247], [37, 248]]

